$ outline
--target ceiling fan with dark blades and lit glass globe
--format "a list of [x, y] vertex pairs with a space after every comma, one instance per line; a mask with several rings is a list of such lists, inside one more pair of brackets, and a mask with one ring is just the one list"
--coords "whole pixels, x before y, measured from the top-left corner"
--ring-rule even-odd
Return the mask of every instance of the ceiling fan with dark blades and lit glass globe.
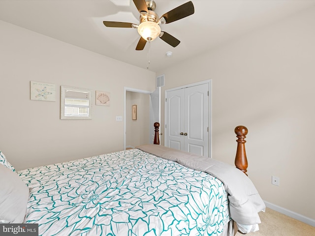
[[181, 42], [169, 33], [161, 31], [159, 25], [168, 24], [192, 15], [194, 13], [194, 7], [191, 1], [170, 10], [160, 18], [158, 18], [158, 14], [154, 11], [156, 9], [154, 0], [133, 0], [133, 3], [140, 12], [139, 25], [126, 22], [103, 21], [104, 25], [106, 27], [138, 29], [138, 33], [141, 37], [136, 50], [143, 50], [147, 41], [151, 42], [157, 37], [173, 47], [176, 47]]

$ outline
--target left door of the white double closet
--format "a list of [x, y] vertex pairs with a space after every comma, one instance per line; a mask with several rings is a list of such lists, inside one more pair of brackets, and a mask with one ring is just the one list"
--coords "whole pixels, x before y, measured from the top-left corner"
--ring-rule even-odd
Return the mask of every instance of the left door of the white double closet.
[[167, 92], [166, 147], [184, 150], [184, 89]]

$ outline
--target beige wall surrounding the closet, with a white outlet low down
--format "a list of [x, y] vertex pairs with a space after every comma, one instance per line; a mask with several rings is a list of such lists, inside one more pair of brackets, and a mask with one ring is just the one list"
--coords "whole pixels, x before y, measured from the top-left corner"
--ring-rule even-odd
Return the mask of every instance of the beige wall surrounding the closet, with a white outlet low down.
[[165, 89], [212, 79], [212, 157], [233, 164], [234, 128], [247, 126], [248, 174], [263, 200], [314, 222], [314, 68], [313, 7], [157, 76], [162, 101]]

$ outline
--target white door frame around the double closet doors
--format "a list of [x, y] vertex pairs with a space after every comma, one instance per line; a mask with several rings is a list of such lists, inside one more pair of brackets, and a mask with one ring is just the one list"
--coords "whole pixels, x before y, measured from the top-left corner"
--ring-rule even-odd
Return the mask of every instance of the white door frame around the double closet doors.
[[[178, 89], [185, 89], [185, 88], [189, 88], [189, 87], [193, 87], [193, 86], [197, 86], [197, 85], [203, 85], [203, 84], [208, 84], [208, 89], [209, 89], [209, 96], [208, 96], [208, 99], [209, 99], [209, 120], [208, 120], [208, 123], [209, 123], [209, 132], [208, 132], [208, 138], [209, 138], [209, 141], [208, 141], [208, 147], [209, 147], [209, 157], [211, 158], [212, 157], [212, 80], [204, 80], [204, 81], [200, 81], [200, 82], [196, 82], [196, 83], [192, 83], [192, 84], [189, 84], [189, 85], [183, 85], [183, 86], [179, 86], [179, 87], [176, 87], [176, 88], [172, 88], [172, 89], [166, 89], [164, 91], [164, 98], [166, 98], [166, 94], [167, 92], [169, 91], [173, 91], [173, 90], [178, 90]], [[167, 117], [167, 111], [166, 111], [166, 99], [164, 99], [164, 122], [166, 122], [166, 117]], [[166, 134], [166, 123], [164, 125], [164, 134]], [[166, 135], [164, 135], [164, 144], [166, 144]]]

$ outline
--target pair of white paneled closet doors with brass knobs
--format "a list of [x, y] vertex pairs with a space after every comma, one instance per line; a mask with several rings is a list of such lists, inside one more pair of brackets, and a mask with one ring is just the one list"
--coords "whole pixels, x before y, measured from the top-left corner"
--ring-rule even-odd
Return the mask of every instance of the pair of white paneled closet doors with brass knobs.
[[209, 156], [208, 84], [167, 92], [166, 147]]

